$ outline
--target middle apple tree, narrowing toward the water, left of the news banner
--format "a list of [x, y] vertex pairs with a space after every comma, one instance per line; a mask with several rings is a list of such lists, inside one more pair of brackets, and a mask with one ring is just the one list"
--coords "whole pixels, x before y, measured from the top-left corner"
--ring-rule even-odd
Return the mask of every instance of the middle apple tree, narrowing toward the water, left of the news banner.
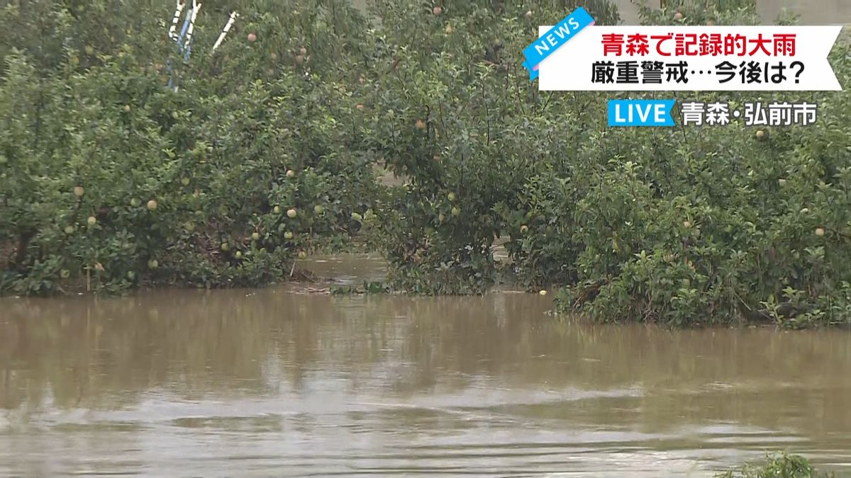
[[[553, 124], [541, 122], [547, 101], [517, 54], [538, 20], [577, 3], [442, 4], [373, 3], [379, 75], [364, 135], [376, 161], [409, 179], [379, 212], [391, 280], [420, 293], [478, 293], [497, 280], [491, 248], [525, 177], [555, 151], [549, 142], [540, 151]], [[608, 2], [590, 8], [602, 23], [618, 20]]]

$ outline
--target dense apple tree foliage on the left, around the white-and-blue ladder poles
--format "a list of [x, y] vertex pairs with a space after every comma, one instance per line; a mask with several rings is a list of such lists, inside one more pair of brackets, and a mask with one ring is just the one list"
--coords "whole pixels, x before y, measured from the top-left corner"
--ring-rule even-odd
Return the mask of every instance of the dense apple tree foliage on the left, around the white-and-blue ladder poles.
[[[317, 41], [292, 67], [272, 59], [301, 54], [305, 39], [352, 35], [363, 18], [344, 2], [244, 3], [244, 31], [211, 54], [227, 14], [205, 6], [186, 65], [150, 20], [170, 18], [165, 10], [47, 0], [3, 8], [4, 34], [23, 48], [3, 49], [0, 291], [51, 293], [83, 279], [111, 291], [261, 284], [288, 276], [300, 251], [357, 230], [351, 213], [380, 186], [350, 147], [351, 93], [338, 85], [362, 38]], [[216, 18], [221, 25], [205, 28]], [[47, 46], [13, 21], [39, 24]], [[90, 34], [101, 24], [103, 36]], [[347, 60], [336, 60], [344, 50]], [[167, 64], [177, 92], [165, 84]]]

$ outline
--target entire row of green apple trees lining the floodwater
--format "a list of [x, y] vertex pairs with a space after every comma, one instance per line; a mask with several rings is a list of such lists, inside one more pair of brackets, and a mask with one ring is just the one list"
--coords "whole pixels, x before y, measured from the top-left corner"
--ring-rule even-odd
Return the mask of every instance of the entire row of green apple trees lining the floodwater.
[[[665, 4], [643, 22], [760, 23], [746, 0]], [[184, 64], [171, 4], [9, 3], [0, 291], [261, 285], [361, 236], [412, 293], [512, 282], [602, 321], [851, 321], [848, 94], [676, 95], [816, 102], [808, 127], [607, 128], [606, 100], [647, 95], [539, 92], [521, 66], [574, 6], [208, 1]], [[847, 44], [831, 64], [848, 88]]]

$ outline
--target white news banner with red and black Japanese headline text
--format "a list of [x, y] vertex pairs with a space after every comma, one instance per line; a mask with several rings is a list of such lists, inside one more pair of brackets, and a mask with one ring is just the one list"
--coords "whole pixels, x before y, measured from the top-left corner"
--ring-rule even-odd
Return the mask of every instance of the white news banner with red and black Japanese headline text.
[[[551, 26], [540, 26], [544, 35]], [[589, 26], [540, 63], [542, 91], [841, 91], [842, 26]]]

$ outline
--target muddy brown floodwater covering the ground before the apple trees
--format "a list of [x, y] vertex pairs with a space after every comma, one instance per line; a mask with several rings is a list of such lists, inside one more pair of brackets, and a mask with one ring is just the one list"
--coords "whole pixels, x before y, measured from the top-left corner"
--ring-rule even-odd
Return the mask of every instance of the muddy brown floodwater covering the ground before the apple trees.
[[851, 472], [847, 331], [299, 291], [0, 299], [0, 475], [703, 476], [783, 449]]

